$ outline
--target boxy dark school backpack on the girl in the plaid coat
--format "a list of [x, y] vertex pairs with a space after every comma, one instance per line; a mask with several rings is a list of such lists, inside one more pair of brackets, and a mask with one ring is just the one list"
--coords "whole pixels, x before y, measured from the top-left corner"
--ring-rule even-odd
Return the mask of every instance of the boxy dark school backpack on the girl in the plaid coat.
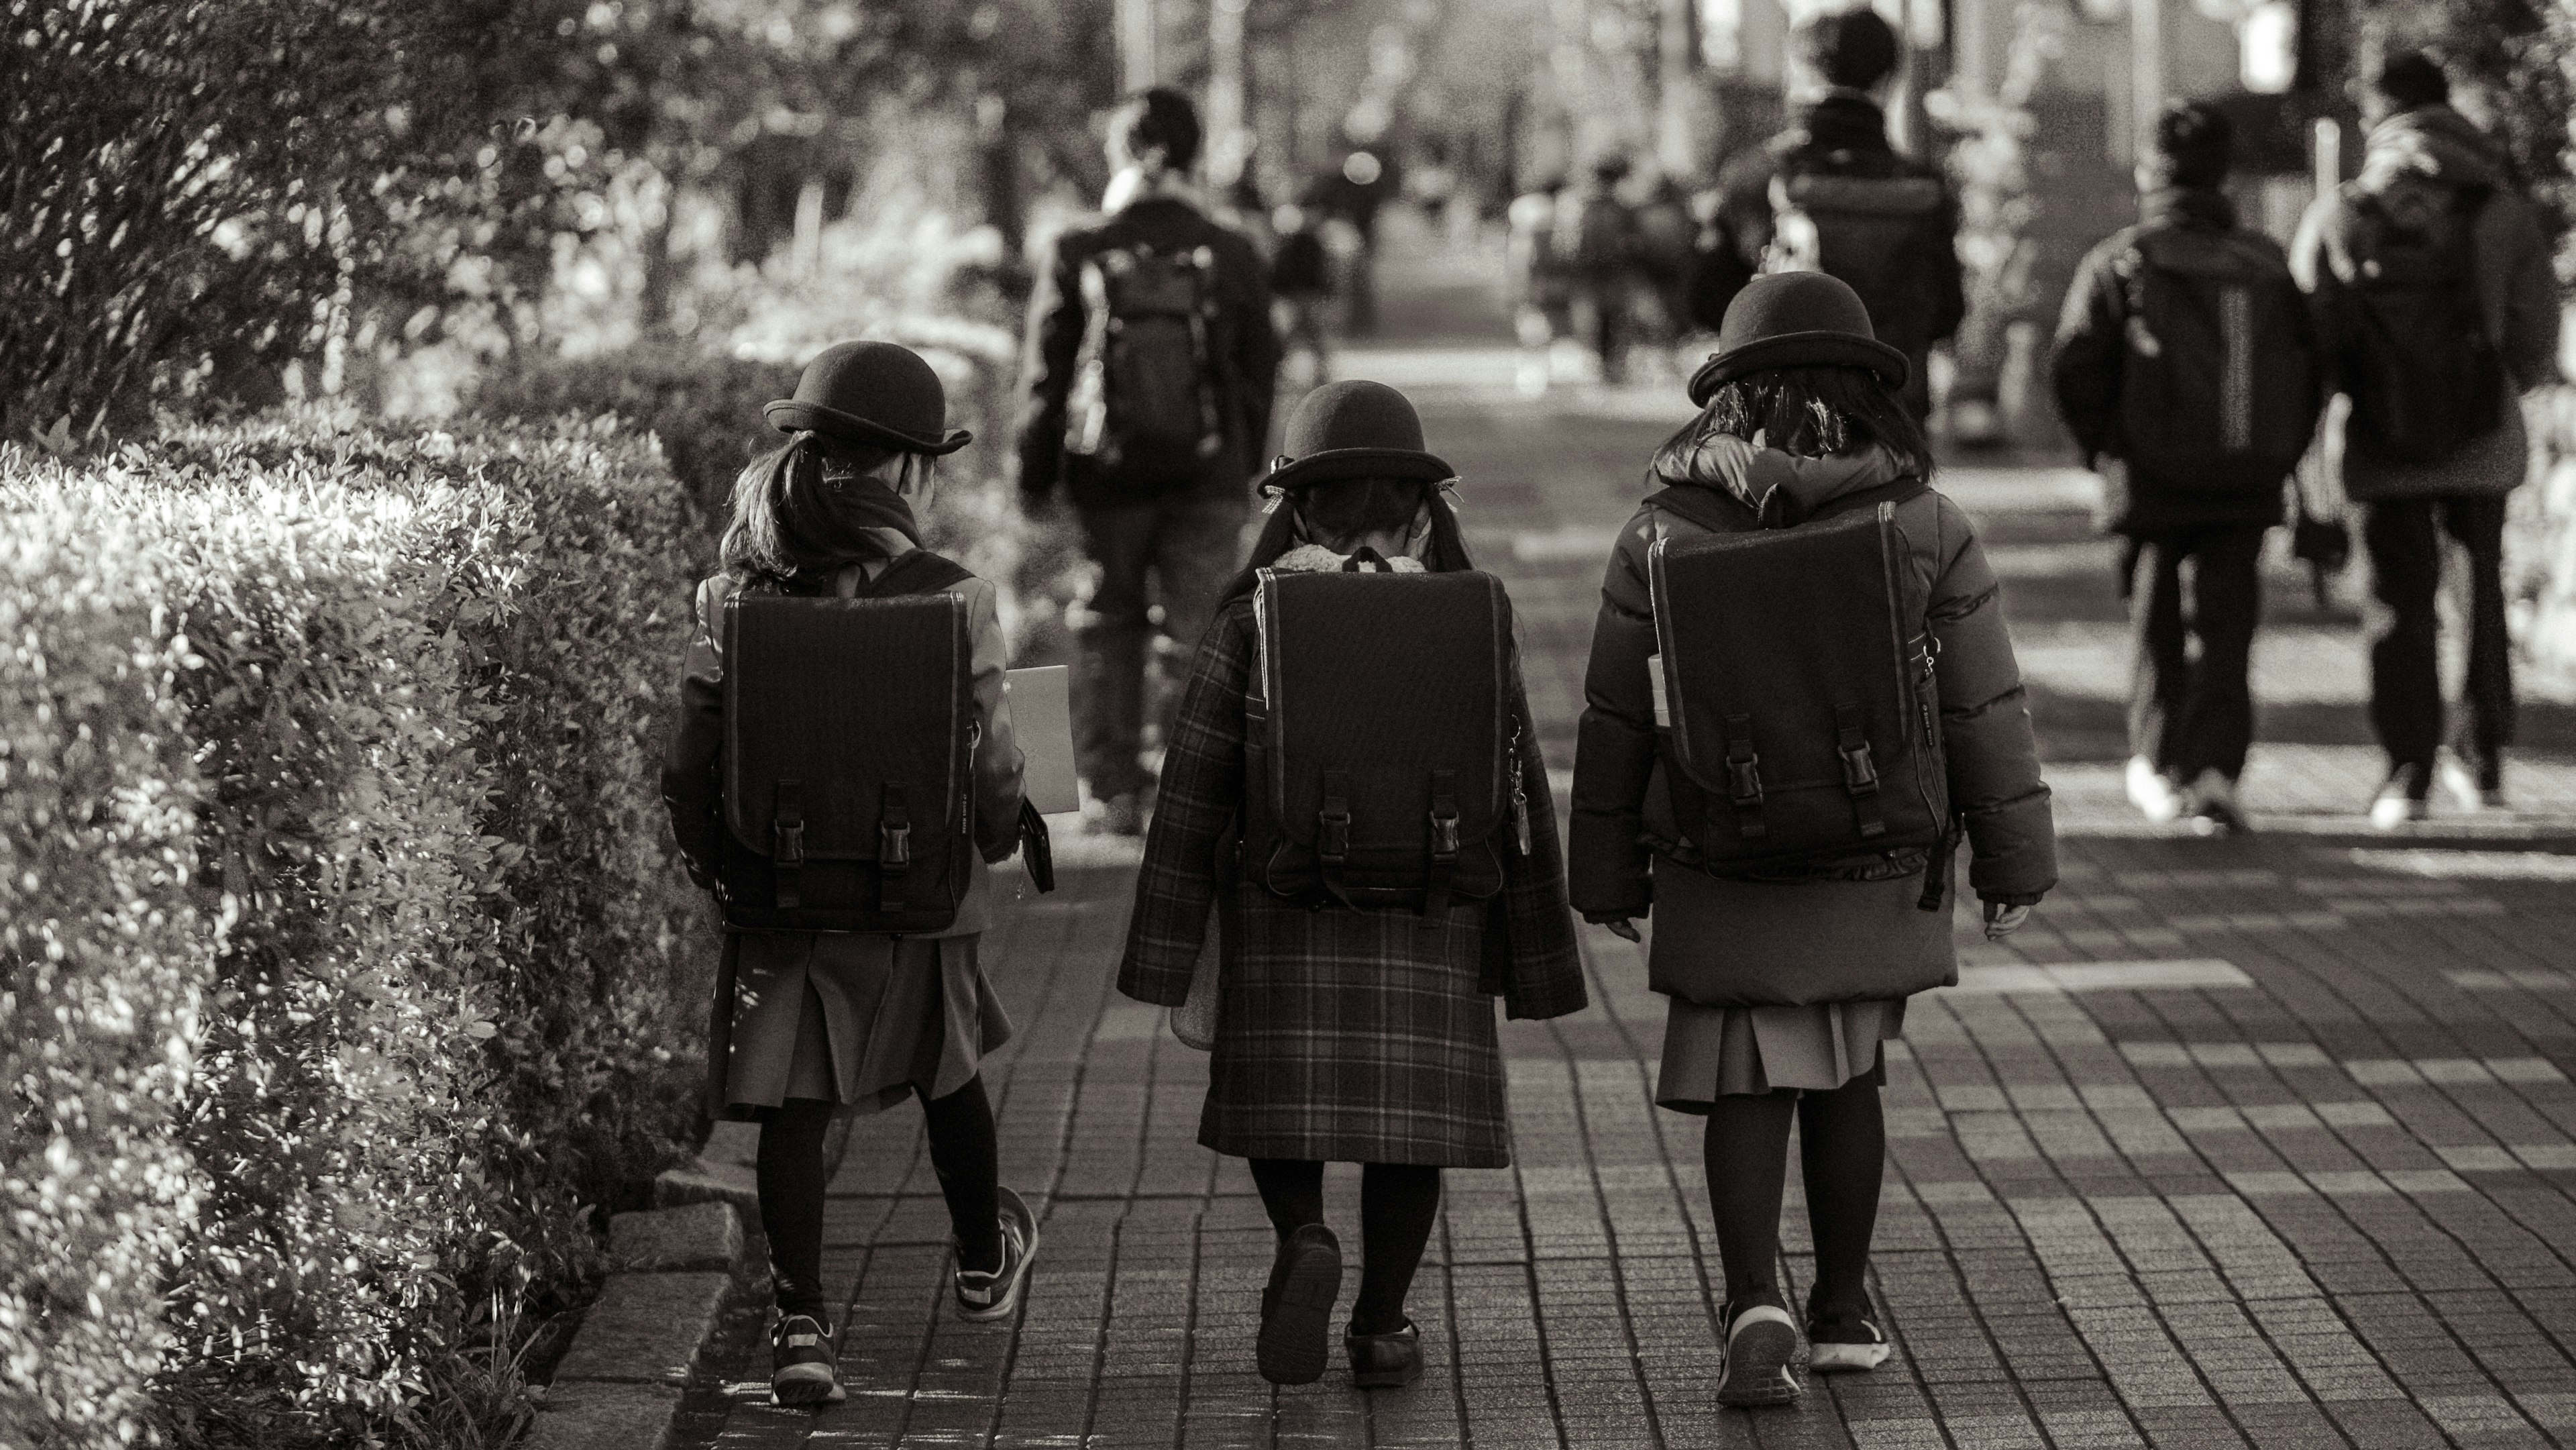
[[1512, 603], [1492, 574], [1262, 569], [1244, 701], [1244, 873], [1291, 901], [1409, 907], [1502, 891], [1528, 852]]

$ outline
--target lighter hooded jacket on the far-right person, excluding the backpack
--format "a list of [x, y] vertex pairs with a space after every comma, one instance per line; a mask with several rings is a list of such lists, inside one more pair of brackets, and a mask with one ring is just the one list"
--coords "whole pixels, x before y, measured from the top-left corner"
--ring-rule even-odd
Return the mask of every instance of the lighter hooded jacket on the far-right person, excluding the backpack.
[[[2367, 209], [2362, 203], [2370, 203]], [[2450, 106], [2419, 106], [2370, 129], [2362, 175], [2316, 198], [2290, 242], [2290, 270], [2308, 291], [2329, 373], [2360, 348], [2352, 283], [2370, 265], [2372, 211], [2427, 224], [2470, 211], [2478, 309], [2504, 366], [2506, 399], [2496, 430], [2439, 464], [2406, 464], [2372, 448], [2370, 420], [2342, 435], [2344, 494], [2396, 497], [2506, 494], [2530, 476], [2530, 433], [2514, 394], [2558, 373], [2558, 286], [2537, 209], [2512, 188], [2504, 149]]]

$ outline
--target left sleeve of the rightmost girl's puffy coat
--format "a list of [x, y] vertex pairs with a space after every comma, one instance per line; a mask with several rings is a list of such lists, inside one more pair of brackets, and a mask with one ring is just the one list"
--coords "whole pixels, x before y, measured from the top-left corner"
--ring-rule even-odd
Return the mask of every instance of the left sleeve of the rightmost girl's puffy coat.
[[1654, 775], [1654, 598], [1646, 549], [1654, 515], [1620, 531], [1602, 577], [1584, 670], [1584, 716], [1574, 739], [1571, 899], [1584, 917], [1643, 917], [1654, 904], [1646, 847], [1646, 783]]

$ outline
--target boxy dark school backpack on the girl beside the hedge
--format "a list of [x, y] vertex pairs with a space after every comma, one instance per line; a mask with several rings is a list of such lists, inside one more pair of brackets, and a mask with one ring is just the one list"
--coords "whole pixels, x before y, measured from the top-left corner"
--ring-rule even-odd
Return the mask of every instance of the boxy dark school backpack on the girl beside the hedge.
[[974, 852], [971, 574], [925, 549], [724, 605], [724, 922], [938, 932]]

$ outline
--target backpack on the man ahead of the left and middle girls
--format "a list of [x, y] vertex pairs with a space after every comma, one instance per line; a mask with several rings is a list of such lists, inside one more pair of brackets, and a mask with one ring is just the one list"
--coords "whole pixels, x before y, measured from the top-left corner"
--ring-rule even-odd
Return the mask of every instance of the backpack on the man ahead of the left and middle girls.
[[1208, 353], [1216, 252], [1108, 247], [1082, 268], [1082, 306], [1066, 453], [1136, 489], [1203, 476], [1226, 446]]

